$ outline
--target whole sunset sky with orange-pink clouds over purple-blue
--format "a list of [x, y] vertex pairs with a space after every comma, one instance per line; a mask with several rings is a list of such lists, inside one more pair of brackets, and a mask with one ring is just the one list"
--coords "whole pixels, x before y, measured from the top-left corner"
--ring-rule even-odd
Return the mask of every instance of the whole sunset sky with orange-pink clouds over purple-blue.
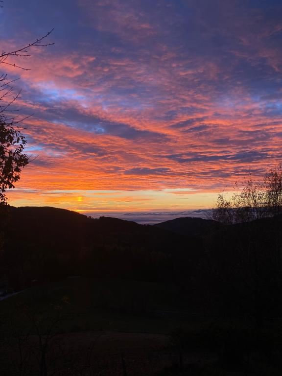
[[282, 160], [281, 0], [5, 0], [31, 163], [15, 206], [211, 208]]

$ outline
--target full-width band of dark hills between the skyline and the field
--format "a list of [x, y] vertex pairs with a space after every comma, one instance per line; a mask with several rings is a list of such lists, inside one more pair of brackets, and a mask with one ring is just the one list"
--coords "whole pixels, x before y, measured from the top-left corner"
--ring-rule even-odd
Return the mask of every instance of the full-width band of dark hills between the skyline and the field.
[[11, 207], [5, 235], [0, 275], [15, 291], [71, 276], [172, 283], [184, 304], [202, 312], [282, 313], [282, 217], [230, 226], [188, 217], [150, 226]]

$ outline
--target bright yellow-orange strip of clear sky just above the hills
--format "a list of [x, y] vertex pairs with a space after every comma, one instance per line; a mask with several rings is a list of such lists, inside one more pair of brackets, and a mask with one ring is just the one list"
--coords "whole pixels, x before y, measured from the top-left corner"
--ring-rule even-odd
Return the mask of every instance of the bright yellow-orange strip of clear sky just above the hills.
[[53, 206], [78, 212], [100, 211], [185, 211], [210, 209], [216, 192], [189, 191], [187, 188], [146, 191], [55, 190], [8, 192], [12, 206]]

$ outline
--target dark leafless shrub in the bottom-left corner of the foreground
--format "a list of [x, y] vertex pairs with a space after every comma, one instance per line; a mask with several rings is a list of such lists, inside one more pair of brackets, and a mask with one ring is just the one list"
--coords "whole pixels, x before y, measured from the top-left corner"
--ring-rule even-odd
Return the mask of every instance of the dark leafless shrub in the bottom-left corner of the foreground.
[[51, 376], [63, 371], [67, 374], [76, 361], [72, 349], [60, 338], [62, 325], [68, 319], [63, 313], [67, 304], [68, 297], [64, 296], [57, 305], [48, 305], [46, 312], [16, 305], [1, 333], [9, 375]]

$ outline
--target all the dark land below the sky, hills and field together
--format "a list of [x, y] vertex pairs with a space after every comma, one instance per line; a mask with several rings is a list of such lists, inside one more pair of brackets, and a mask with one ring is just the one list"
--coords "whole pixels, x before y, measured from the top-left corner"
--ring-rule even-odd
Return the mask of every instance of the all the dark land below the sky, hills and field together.
[[1, 375], [281, 375], [282, 216], [5, 210]]

